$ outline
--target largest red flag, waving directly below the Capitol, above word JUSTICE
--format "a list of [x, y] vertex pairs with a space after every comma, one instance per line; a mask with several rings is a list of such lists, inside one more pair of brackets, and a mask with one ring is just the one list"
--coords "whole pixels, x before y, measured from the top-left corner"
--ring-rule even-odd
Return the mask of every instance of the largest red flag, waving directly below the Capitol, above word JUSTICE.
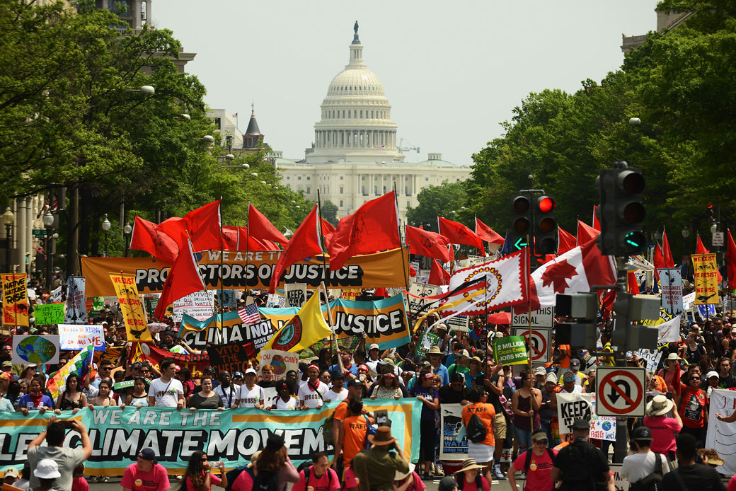
[[364, 202], [355, 213], [341, 219], [333, 233], [325, 236], [330, 271], [342, 268], [354, 255], [401, 247], [398, 227], [394, 191]]

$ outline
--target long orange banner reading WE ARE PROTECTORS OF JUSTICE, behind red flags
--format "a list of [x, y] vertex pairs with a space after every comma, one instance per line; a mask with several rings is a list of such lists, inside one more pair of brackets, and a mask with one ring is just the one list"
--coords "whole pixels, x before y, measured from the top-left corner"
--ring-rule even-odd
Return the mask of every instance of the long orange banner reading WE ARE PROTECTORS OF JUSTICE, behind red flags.
[[[224, 289], [266, 289], [280, 251], [225, 251], [222, 257]], [[199, 273], [208, 289], [219, 289], [220, 251], [197, 252]], [[403, 262], [403, 264], [402, 264]], [[171, 265], [155, 258], [82, 258], [82, 274], [86, 278], [88, 297], [110, 297], [115, 294], [110, 273], [135, 275], [138, 292], [160, 293]], [[322, 256], [314, 256], [292, 265], [279, 283], [307, 283], [316, 289], [323, 277]], [[408, 256], [405, 249], [393, 249], [375, 254], [356, 255], [341, 269], [326, 271], [328, 288], [405, 288], [408, 282]]]

